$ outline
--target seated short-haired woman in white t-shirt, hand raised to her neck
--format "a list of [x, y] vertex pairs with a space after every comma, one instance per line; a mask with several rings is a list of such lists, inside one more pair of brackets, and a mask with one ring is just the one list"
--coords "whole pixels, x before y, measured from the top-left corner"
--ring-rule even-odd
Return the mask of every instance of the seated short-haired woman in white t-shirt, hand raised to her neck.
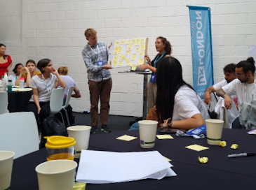
[[[58, 71], [53, 68], [50, 59], [41, 59], [37, 64], [42, 74], [32, 78], [29, 87], [33, 90], [33, 96], [27, 105], [27, 111], [34, 112], [36, 121], [42, 124], [43, 119], [50, 115], [50, 95], [57, 82], [60, 87], [65, 88], [66, 83], [60, 77]], [[39, 116], [39, 121], [37, 120]]]

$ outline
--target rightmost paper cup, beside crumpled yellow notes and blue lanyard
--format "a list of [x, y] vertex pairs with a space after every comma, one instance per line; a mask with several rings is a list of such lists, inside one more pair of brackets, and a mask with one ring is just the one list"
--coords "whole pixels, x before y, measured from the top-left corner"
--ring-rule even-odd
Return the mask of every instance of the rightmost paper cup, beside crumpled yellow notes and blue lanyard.
[[223, 123], [220, 119], [206, 119], [206, 135], [209, 145], [219, 145], [222, 138]]

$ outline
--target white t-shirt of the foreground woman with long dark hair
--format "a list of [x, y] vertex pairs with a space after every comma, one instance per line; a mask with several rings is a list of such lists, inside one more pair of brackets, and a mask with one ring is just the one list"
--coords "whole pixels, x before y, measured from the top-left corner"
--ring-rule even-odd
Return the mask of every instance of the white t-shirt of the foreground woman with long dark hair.
[[180, 87], [175, 94], [173, 121], [189, 119], [198, 113], [201, 113], [203, 119], [210, 119], [206, 106], [196, 92], [187, 85]]

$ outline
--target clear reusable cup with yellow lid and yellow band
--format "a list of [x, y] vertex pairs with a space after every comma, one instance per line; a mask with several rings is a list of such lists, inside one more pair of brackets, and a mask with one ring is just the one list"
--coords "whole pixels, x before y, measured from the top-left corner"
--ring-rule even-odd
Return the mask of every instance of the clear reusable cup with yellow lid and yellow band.
[[65, 136], [50, 136], [47, 138], [47, 161], [67, 159], [74, 160], [74, 138]]

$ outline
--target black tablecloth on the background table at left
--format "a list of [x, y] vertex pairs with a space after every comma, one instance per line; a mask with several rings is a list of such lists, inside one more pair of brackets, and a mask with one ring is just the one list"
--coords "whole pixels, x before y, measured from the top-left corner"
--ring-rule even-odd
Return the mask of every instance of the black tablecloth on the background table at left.
[[9, 112], [25, 112], [26, 105], [33, 92], [8, 92], [8, 110]]

